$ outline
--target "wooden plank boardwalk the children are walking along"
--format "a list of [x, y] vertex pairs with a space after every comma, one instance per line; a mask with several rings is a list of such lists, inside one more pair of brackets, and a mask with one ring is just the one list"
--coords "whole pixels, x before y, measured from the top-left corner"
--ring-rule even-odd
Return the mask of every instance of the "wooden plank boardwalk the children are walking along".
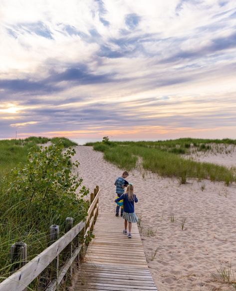
[[74, 291], [157, 290], [148, 270], [137, 224], [132, 238], [123, 234], [124, 220], [114, 214], [99, 214]]

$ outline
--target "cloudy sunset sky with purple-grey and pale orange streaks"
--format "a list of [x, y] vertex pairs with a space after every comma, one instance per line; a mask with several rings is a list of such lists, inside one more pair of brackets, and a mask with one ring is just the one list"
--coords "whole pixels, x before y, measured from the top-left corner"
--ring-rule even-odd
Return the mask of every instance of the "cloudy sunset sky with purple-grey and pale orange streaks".
[[1, 0], [0, 139], [236, 139], [235, 0]]

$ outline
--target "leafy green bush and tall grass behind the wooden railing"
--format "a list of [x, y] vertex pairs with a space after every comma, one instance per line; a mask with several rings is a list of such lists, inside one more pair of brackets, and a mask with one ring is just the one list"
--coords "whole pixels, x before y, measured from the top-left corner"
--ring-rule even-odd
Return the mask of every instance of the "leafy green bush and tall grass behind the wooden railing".
[[[16, 242], [28, 245], [28, 260], [48, 246], [50, 225], [65, 231], [65, 218], [74, 224], [86, 217], [88, 189], [72, 174], [78, 161], [70, 161], [74, 149], [62, 153], [63, 145], [33, 146], [27, 162], [13, 168], [1, 179], [0, 188], [0, 277], [10, 271], [9, 249]], [[79, 198], [76, 189], [79, 191]]]

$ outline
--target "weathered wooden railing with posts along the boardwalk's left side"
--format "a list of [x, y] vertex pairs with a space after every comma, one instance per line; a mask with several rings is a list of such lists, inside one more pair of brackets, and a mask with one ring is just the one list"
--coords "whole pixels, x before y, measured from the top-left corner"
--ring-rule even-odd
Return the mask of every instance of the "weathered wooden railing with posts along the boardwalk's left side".
[[[76, 262], [78, 265], [79, 259], [83, 258], [84, 255], [84, 243], [81, 243], [81, 237], [83, 238], [82, 241], [84, 241], [88, 232], [93, 230], [93, 226], [98, 216], [99, 194], [99, 187], [96, 186], [94, 191], [90, 194], [90, 207], [88, 209], [86, 221], [81, 221], [72, 227], [73, 219], [71, 217], [66, 219], [67, 232], [61, 238], [57, 239], [59, 226], [52, 225], [50, 227], [51, 245], [28, 263], [26, 263], [27, 252], [25, 251], [25, 244], [21, 243], [20, 245], [19, 243], [17, 247], [16, 245], [13, 245], [11, 248], [11, 259], [20, 259], [21, 262], [19, 266], [23, 267], [0, 283], [0, 291], [27, 290], [27, 286], [48, 266], [50, 266], [51, 271], [49, 272], [49, 284], [44, 289], [45, 291], [58, 290], [59, 284], [65, 275], [69, 276], [71, 279], [72, 264]], [[14, 254], [15, 250], [19, 252], [17, 255]], [[63, 255], [65, 250], [67, 260], [63, 266], [59, 268], [59, 255]]]

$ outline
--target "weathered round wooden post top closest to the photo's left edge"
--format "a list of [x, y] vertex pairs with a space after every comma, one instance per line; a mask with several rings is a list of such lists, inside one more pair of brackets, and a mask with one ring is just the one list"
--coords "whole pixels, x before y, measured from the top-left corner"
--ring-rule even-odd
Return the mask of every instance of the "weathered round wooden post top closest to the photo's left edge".
[[[27, 263], [27, 245], [15, 243], [10, 247], [11, 271], [16, 271]], [[26, 291], [27, 288], [24, 289]]]

